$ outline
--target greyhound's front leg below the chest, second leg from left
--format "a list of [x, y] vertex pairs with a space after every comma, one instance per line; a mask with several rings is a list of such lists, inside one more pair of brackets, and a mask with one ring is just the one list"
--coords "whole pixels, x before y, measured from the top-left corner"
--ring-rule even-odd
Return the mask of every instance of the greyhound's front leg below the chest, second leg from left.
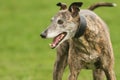
[[68, 80], [77, 80], [80, 70], [82, 69], [82, 62], [76, 53], [74, 53], [74, 49], [70, 49], [69, 57], [68, 57], [68, 65], [70, 69], [70, 75]]

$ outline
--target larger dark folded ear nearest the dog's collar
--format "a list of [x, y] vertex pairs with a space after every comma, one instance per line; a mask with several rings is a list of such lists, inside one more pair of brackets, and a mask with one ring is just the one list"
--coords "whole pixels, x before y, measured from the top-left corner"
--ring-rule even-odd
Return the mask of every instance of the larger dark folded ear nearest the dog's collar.
[[79, 14], [80, 11], [79, 7], [81, 7], [82, 4], [83, 4], [82, 2], [74, 2], [69, 6], [68, 10], [72, 13], [73, 17], [76, 17]]

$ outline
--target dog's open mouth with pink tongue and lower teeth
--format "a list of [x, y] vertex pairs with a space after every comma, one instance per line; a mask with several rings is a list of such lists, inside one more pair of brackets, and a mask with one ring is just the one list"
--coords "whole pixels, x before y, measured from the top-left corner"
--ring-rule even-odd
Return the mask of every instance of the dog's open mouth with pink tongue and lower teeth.
[[53, 39], [52, 44], [50, 44], [50, 47], [51, 47], [52, 49], [54, 49], [54, 48], [65, 38], [66, 35], [67, 35], [66, 32], [63, 32], [63, 33], [60, 33], [59, 35], [57, 35], [57, 36]]

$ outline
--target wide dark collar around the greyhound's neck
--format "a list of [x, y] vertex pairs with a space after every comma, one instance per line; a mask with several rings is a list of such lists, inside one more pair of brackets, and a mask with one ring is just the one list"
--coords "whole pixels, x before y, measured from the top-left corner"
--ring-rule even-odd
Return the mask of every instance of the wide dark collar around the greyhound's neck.
[[87, 27], [87, 22], [84, 16], [80, 15], [80, 26], [78, 27], [78, 30], [75, 33], [74, 38], [79, 38], [80, 36], [82, 36], [86, 30], [86, 27]]

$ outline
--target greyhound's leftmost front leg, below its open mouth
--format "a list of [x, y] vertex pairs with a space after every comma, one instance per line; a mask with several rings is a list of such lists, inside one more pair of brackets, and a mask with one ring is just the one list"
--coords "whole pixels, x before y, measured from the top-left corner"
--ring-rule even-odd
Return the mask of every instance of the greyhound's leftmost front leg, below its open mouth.
[[67, 41], [57, 48], [57, 59], [54, 64], [53, 80], [62, 80], [64, 69], [67, 66], [68, 50], [69, 44]]

